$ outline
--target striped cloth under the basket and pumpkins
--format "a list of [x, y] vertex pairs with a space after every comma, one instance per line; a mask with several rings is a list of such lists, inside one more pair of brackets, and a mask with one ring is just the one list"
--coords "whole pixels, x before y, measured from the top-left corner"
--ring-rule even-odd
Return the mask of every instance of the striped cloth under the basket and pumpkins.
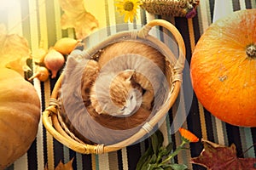
[[[37, 49], [39, 44], [44, 48], [49, 48], [61, 37], [74, 37], [73, 29], [61, 30], [60, 21], [63, 11], [58, 0], [8, 0], [4, 2], [6, 3], [1, 1], [1, 4], [3, 4], [0, 6], [0, 23], [7, 26], [9, 33], [18, 33], [20, 36], [26, 37], [32, 51]], [[238, 156], [255, 157], [256, 147], [254, 146], [250, 150], [247, 150], [247, 148], [256, 143], [256, 128], [235, 127], [219, 121], [203, 108], [191, 89], [189, 80], [191, 54], [201, 34], [212, 23], [213, 12], [221, 13], [221, 8], [214, 8], [214, 2], [217, 3], [216, 0], [201, 0], [197, 9], [198, 14], [195, 18], [189, 20], [148, 14], [141, 9], [136, 23], [131, 26], [131, 29], [136, 24], [144, 25], [148, 20], [156, 18], [168, 20], [177, 26], [186, 45], [187, 63], [184, 70], [183, 88], [177, 103], [173, 105], [166, 116], [165, 122], [160, 127], [165, 136], [165, 144], [171, 141], [176, 145], [180, 144], [180, 136], [176, 131], [177, 127], [183, 126], [199, 138], [224, 145], [236, 144]], [[226, 0], [225, 3], [231, 11], [256, 8], [255, 0]], [[85, 8], [99, 20], [101, 27], [123, 23], [123, 18], [119, 16], [114, 8], [113, 0], [84, 0], [84, 4]], [[162, 37], [162, 39], [164, 42], [166, 41], [165, 37]], [[48, 82], [34, 80], [34, 86], [41, 98], [42, 111], [49, 103], [49, 96], [55, 81], [55, 79], [50, 79]], [[139, 157], [147, 149], [147, 146], [148, 139], [122, 150], [103, 155], [81, 155], [53, 139], [40, 122], [38, 137], [32, 143], [30, 150], [7, 169], [44, 169], [46, 164], [48, 164], [49, 169], [54, 169], [59, 161], [66, 163], [74, 158], [74, 169], [132, 170], [135, 169]], [[189, 163], [191, 157], [199, 156], [202, 144], [190, 144], [190, 147], [190, 150], [176, 156], [175, 161], [188, 165], [189, 169], [205, 169]], [[247, 152], [244, 152], [245, 150]]]

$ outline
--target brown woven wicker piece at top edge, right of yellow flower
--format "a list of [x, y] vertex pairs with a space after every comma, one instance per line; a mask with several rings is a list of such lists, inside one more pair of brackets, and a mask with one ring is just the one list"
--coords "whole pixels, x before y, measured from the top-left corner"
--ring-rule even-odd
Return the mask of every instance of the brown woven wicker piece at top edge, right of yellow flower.
[[192, 18], [200, 0], [143, 0], [141, 7], [151, 14]]

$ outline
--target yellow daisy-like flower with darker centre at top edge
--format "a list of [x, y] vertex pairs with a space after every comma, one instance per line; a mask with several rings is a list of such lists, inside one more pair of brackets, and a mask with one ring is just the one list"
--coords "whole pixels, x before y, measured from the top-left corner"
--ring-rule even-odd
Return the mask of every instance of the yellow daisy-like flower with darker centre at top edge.
[[139, 0], [116, 0], [115, 6], [121, 15], [125, 14], [125, 22], [132, 22], [141, 4]]

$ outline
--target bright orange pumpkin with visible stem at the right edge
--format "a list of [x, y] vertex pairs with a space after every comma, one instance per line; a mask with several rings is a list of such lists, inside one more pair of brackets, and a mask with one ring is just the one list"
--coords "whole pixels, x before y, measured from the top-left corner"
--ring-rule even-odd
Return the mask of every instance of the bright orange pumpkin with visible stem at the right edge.
[[191, 63], [195, 94], [213, 116], [256, 127], [256, 9], [236, 11], [207, 28]]

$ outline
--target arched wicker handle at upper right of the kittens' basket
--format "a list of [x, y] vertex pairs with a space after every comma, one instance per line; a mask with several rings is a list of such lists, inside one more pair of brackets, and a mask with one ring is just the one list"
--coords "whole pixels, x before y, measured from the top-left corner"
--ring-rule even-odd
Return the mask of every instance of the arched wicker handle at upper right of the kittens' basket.
[[[178, 50], [179, 50], [179, 56], [173, 68], [174, 75], [173, 75], [172, 82], [176, 82], [176, 81], [182, 82], [183, 68], [184, 68], [185, 56], [186, 56], [186, 48], [183, 41], [183, 37], [181, 36], [177, 28], [173, 26], [170, 22], [166, 20], [160, 20], [160, 19], [149, 21], [147, 25], [143, 26], [143, 28], [140, 31], [138, 31], [137, 36], [144, 39], [150, 39], [151, 37], [149, 36], [149, 31], [154, 26], [165, 27], [168, 31], [172, 33], [173, 37], [175, 38], [177, 42]], [[154, 41], [154, 40], [151, 40], [151, 41]]]

